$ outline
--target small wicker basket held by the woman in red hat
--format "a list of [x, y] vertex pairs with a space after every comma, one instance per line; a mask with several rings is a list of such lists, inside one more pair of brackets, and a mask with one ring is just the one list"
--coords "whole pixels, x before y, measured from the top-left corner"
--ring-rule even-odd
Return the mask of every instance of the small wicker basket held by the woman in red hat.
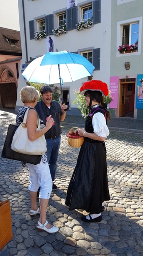
[[68, 144], [70, 146], [72, 146], [72, 147], [79, 147], [79, 146], [81, 146], [83, 144], [84, 137], [83, 136], [79, 136], [78, 132], [77, 132], [77, 134], [72, 132], [73, 129], [79, 129], [79, 128], [78, 127], [72, 127], [71, 128], [71, 130], [67, 134]]

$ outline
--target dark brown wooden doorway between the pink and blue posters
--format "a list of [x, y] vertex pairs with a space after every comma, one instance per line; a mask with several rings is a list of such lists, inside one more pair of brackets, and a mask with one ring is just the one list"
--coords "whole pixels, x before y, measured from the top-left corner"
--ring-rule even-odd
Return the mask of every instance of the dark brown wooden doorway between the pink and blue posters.
[[135, 78], [120, 80], [119, 116], [134, 117]]

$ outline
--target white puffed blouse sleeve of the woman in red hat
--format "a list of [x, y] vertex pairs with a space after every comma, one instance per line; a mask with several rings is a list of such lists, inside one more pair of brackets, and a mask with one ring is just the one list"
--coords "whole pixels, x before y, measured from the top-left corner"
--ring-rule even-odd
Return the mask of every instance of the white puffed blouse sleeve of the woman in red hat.
[[106, 119], [104, 115], [100, 112], [94, 114], [92, 119], [92, 125], [94, 129], [94, 133], [100, 137], [105, 137], [109, 135], [109, 129], [106, 124]]

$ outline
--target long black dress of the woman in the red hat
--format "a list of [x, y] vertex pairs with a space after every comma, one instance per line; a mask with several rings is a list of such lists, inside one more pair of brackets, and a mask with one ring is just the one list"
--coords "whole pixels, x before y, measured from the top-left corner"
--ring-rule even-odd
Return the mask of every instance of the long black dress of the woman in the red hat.
[[[85, 131], [94, 133], [90, 116], [85, 121]], [[83, 209], [90, 214], [99, 214], [102, 202], [108, 200], [110, 196], [105, 143], [85, 137], [69, 183], [65, 204], [70, 210]]]

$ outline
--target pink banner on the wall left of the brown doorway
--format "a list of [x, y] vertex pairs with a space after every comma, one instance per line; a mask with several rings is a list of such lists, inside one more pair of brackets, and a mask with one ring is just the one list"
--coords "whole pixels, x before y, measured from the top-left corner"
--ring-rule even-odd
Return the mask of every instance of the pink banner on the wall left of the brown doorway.
[[110, 77], [110, 92], [113, 100], [109, 104], [110, 109], [118, 108], [118, 86], [119, 84], [119, 76], [111, 76]]

